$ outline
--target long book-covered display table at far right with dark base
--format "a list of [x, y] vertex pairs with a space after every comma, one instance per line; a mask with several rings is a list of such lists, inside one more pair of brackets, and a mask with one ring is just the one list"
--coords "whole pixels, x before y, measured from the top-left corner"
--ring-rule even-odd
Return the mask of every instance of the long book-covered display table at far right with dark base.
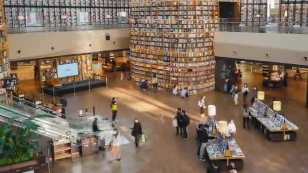
[[249, 108], [252, 123], [260, 129], [265, 137], [272, 141], [295, 141], [299, 128], [288, 121], [281, 112], [275, 112], [265, 103], [255, 99]]

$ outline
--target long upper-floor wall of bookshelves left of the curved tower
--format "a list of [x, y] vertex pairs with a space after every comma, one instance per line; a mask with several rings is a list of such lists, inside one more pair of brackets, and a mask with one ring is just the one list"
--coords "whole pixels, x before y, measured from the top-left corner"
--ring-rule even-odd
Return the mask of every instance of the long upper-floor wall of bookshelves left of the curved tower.
[[36, 20], [41, 22], [35, 26], [80, 25], [81, 12], [88, 13], [86, 25], [103, 25], [117, 24], [118, 13], [128, 13], [129, 0], [4, 0], [4, 8], [8, 27], [25, 27], [25, 20], [18, 16], [29, 12], [38, 12]]

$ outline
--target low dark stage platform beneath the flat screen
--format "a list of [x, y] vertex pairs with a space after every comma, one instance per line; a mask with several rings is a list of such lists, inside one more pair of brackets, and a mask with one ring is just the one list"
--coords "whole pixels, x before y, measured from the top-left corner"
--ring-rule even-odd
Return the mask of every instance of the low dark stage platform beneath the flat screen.
[[48, 85], [43, 88], [43, 91], [49, 95], [60, 96], [78, 91], [90, 90], [99, 86], [106, 86], [106, 84], [107, 83], [104, 80], [89, 79], [64, 84]]

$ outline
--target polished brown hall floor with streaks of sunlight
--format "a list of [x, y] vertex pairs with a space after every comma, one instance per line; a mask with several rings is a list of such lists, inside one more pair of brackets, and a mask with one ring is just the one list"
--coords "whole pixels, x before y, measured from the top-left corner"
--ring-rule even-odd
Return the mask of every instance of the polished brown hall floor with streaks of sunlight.
[[[197, 157], [196, 129], [194, 123], [200, 121], [197, 101], [201, 96], [182, 99], [171, 93], [152, 90], [141, 91], [133, 82], [120, 79], [120, 73], [109, 73], [108, 88], [96, 88], [74, 94], [68, 94], [67, 113], [78, 116], [78, 110], [96, 107], [97, 114], [111, 117], [109, 104], [112, 97], [118, 97], [119, 126], [130, 144], [121, 146], [122, 160], [110, 162], [110, 151], [101, 151], [97, 155], [58, 160], [52, 164], [53, 172], [206, 172], [208, 163]], [[235, 138], [242, 148], [246, 159], [241, 172], [308, 172], [308, 109], [305, 107], [306, 79], [289, 79], [289, 86], [281, 89], [262, 89], [260, 74], [244, 72], [239, 83], [247, 82], [252, 89], [259, 85], [265, 91], [266, 103], [272, 97], [282, 101], [282, 112], [299, 126], [297, 140], [294, 142], [270, 142], [256, 129], [242, 128], [241, 106], [234, 105], [233, 98], [226, 93], [211, 92], [206, 94], [208, 105], [216, 105], [217, 120], [234, 119], [237, 126]], [[40, 93], [40, 88], [33, 88], [32, 81], [22, 81], [24, 90]], [[28, 83], [28, 84], [26, 84]], [[33, 83], [33, 82], [32, 82]], [[50, 97], [44, 95], [44, 97]], [[241, 98], [241, 97], [240, 97]], [[240, 103], [242, 99], [240, 99]], [[187, 111], [191, 117], [189, 139], [182, 140], [175, 135], [172, 118], [176, 108]], [[90, 109], [91, 110], [91, 109]], [[91, 112], [90, 112], [91, 114]], [[136, 150], [129, 128], [133, 118], [137, 117], [148, 140]]]

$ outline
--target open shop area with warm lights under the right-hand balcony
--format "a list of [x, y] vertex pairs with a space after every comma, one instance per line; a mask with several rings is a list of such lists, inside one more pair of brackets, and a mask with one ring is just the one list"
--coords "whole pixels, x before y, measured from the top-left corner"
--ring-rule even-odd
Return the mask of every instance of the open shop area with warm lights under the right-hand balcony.
[[257, 86], [267, 92], [269, 101], [285, 99], [308, 106], [307, 74], [308, 68], [301, 66], [216, 57], [215, 90], [228, 92], [234, 84], [241, 89], [247, 83], [250, 90]]

